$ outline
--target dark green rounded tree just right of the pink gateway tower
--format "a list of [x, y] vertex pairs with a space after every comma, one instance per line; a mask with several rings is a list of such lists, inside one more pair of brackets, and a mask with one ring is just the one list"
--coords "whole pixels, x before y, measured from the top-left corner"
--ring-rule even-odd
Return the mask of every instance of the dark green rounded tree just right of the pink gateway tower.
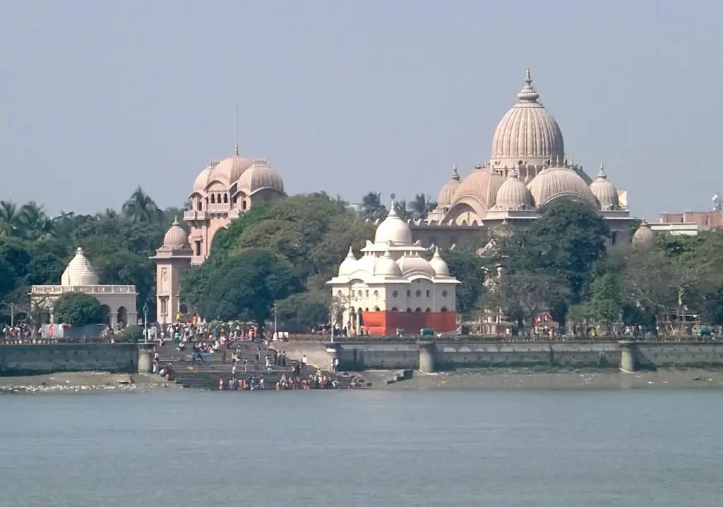
[[254, 321], [265, 326], [277, 300], [302, 288], [291, 264], [268, 250], [249, 248], [210, 273], [198, 309], [206, 319]]

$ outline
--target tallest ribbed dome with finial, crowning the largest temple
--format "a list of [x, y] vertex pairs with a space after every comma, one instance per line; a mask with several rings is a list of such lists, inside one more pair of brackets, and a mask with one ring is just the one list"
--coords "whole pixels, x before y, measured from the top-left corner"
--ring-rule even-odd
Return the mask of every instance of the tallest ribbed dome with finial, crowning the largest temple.
[[560, 126], [544, 105], [537, 102], [539, 95], [532, 87], [529, 69], [517, 97], [519, 102], [502, 117], [492, 139], [493, 170], [518, 167], [519, 162], [544, 165], [547, 160], [565, 156]]

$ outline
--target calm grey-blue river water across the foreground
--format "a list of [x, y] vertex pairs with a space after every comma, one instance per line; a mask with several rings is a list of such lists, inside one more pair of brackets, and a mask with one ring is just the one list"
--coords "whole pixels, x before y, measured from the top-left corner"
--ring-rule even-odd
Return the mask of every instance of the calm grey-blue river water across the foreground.
[[0, 506], [720, 506], [723, 391], [0, 397]]

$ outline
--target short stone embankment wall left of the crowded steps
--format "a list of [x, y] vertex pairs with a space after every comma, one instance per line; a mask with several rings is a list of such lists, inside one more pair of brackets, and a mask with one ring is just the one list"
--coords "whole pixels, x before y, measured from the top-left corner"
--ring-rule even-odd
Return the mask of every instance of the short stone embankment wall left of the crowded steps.
[[0, 376], [40, 375], [72, 371], [138, 371], [139, 345], [54, 344], [1, 345]]

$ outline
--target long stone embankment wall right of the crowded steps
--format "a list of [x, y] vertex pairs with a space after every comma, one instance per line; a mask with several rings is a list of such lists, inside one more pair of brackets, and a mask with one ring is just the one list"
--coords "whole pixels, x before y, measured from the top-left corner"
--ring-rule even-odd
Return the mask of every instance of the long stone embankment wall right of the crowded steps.
[[288, 342], [277, 345], [311, 364], [339, 358], [343, 371], [456, 368], [723, 367], [717, 342]]

